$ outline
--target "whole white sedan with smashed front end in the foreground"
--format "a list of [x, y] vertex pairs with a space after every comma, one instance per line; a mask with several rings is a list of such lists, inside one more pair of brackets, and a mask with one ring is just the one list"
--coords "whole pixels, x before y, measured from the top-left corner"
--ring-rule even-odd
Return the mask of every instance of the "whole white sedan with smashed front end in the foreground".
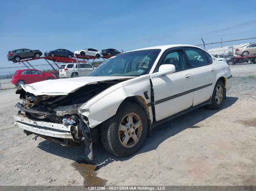
[[[200, 56], [201, 59], [197, 59]], [[87, 77], [20, 85], [15, 125], [64, 146], [138, 151], [151, 129], [195, 108], [220, 109], [232, 75], [226, 62], [191, 45], [165, 45], [113, 56]]]

